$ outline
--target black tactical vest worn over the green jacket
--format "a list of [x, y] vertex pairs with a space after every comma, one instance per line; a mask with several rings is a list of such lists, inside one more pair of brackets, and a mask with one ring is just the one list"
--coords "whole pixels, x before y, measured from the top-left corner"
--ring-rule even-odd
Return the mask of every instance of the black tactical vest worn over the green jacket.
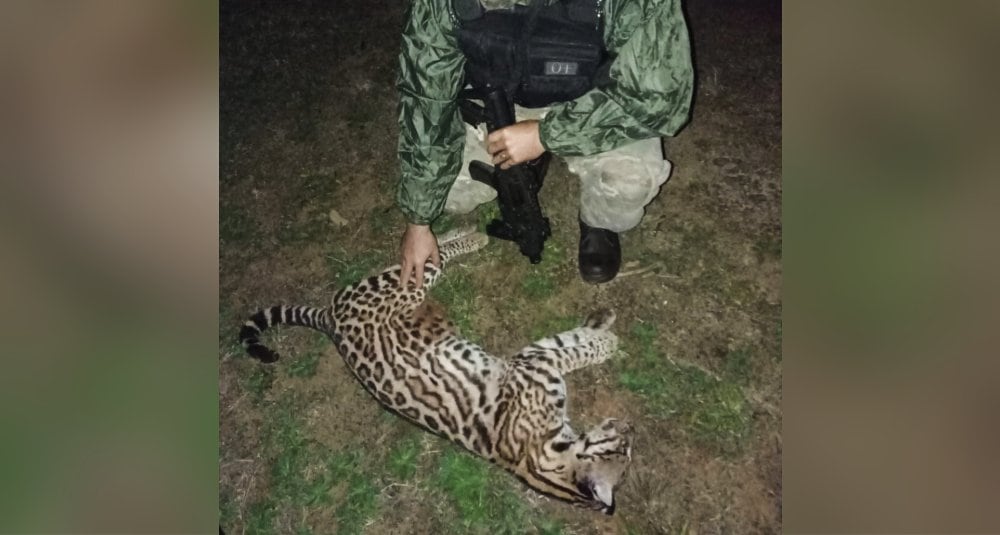
[[453, 0], [465, 81], [503, 87], [513, 101], [540, 108], [573, 100], [607, 76], [602, 0], [557, 0], [486, 11], [479, 0]]

